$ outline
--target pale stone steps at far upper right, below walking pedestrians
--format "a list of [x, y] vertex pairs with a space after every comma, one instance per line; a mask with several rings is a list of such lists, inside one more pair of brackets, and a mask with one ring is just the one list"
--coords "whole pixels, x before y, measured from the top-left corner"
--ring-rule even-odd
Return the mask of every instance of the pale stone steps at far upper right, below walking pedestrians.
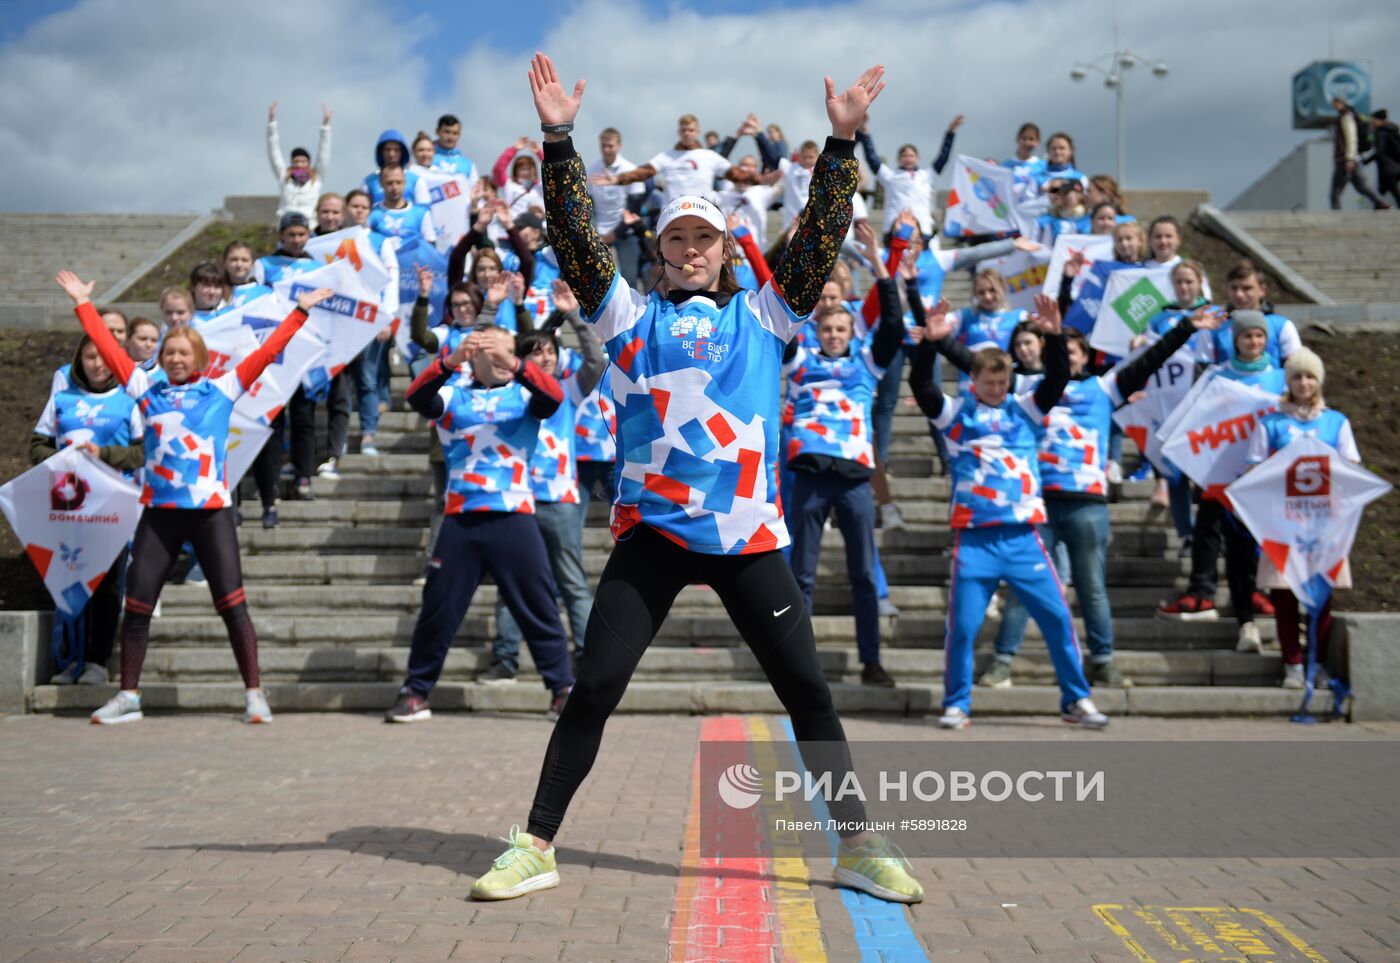
[[1400, 302], [1400, 214], [1232, 210], [1229, 217], [1338, 304]]

